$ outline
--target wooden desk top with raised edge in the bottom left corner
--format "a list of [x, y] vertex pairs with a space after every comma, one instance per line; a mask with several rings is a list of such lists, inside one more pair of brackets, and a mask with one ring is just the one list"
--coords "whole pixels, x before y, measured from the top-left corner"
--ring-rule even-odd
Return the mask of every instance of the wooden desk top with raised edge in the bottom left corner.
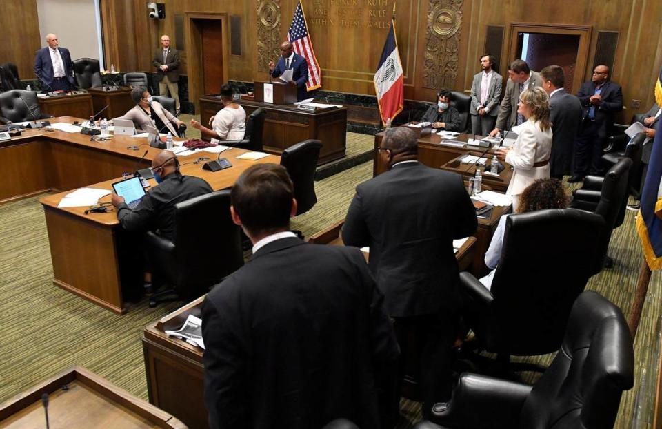
[[[67, 390], [62, 389], [65, 385]], [[48, 393], [48, 417], [54, 428], [186, 428], [167, 412], [81, 367], [6, 401], [0, 406], [0, 427], [46, 427], [43, 393]]]

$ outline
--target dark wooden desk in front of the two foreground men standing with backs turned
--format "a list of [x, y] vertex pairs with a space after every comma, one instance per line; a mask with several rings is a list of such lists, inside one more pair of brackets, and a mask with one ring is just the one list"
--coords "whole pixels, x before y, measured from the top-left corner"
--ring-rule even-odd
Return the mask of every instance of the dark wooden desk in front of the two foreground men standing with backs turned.
[[[317, 244], [341, 245], [339, 238], [343, 222], [317, 233], [308, 240]], [[460, 266], [472, 260], [474, 238], [471, 237], [456, 253]], [[192, 429], [208, 428], [204, 401], [204, 350], [188, 342], [165, 335], [166, 330], [179, 329], [186, 317], [201, 317], [204, 297], [190, 302], [150, 324], [143, 331], [143, 355], [150, 403], [171, 412]], [[185, 395], [181, 393], [185, 392]]]

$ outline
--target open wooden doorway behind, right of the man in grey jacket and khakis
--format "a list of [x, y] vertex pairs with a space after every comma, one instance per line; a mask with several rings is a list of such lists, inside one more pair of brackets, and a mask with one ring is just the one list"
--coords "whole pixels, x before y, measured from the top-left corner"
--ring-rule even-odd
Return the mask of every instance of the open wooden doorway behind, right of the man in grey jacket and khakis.
[[185, 12], [184, 20], [186, 45], [190, 47], [189, 99], [199, 112], [200, 97], [218, 94], [229, 77], [228, 15]]

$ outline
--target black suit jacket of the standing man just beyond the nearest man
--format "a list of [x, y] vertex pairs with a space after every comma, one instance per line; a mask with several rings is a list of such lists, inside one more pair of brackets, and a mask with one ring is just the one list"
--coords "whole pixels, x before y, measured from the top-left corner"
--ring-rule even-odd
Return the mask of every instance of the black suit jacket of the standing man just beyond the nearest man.
[[370, 246], [370, 270], [392, 317], [457, 311], [452, 240], [471, 236], [476, 211], [459, 174], [402, 163], [357, 187], [343, 226], [348, 246]]

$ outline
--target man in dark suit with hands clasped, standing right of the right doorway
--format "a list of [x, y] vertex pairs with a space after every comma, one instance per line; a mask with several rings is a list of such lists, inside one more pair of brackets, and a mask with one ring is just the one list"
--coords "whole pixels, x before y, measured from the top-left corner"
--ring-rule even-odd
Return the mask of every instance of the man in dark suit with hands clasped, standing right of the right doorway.
[[568, 180], [581, 182], [586, 174], [600, 174], [602, 149], [612, 125], [614, 113], [623, 109], [621, 85], [608, 80], [609, 67], [596, 65], [590, 82], [581, 84], [577, 96], [583, 120], [574, 147], [574, 171]]

